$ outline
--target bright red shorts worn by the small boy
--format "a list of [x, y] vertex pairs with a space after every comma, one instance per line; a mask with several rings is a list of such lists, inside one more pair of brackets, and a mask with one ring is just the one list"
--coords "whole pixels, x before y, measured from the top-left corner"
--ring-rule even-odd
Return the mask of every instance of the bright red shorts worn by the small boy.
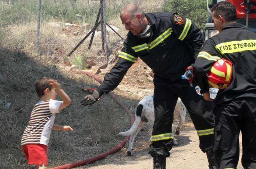
[[48, 164], [47, 146], [44, 144], [26, 144], [21, 146], [25, 156], [28, 160], [28, 164], [44, 165]]

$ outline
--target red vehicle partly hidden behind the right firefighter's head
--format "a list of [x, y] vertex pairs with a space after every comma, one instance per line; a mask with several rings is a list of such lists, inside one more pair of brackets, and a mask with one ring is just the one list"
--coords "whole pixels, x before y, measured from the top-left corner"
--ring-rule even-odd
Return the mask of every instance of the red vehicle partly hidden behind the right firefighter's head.
[[[209, 2], [210, 1], [210, 2]], [[225, 0], [207, 0], [207, 11], [211, 15], [213, 5]], [[237, 22], [246, 26], [249, 30], [256, 33], [256, 0], [227, 0], [235, 5]], [[214, 28], [212, 17], [208, 17], [208, 21], [204, 28], [204, 40], [218, 34]]]

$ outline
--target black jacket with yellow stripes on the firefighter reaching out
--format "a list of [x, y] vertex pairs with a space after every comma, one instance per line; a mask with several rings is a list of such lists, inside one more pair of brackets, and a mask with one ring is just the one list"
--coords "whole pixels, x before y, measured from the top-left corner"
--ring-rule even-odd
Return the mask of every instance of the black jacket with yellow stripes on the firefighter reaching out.
[[119, 60], [100, 86], [104, 93], [118, 86], [138, 57], [153, 69], [155, 84], [188, 84], [188, 81], [181, 80], [181, 75], [187, 66], [195, 62], [201, 49], [203, 41], [200, 29], [191, 20], [168, 12], [145, 15], [152, 29], [151, 36], [141, 39], [129, 31]]

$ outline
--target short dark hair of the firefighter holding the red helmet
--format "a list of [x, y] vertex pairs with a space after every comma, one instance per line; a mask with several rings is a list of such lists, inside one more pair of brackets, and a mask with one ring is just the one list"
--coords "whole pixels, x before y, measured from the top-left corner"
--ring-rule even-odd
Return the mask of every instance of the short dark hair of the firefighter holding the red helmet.
[[214, 17], [218, 18], [221, 15], [227, 22], [236, 21], [236, 8], [229, 1], [221, 1], [212, 7], [212, 12], [214, 11]]

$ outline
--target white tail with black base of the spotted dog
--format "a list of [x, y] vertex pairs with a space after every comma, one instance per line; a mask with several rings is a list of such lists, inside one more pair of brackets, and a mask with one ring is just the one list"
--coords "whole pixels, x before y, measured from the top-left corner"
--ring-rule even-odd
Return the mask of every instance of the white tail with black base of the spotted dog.
[[124, 135], [124, 136], [132, 135], [136, 131], [136, 129], [138, 128], [140, 121], [141, 121], [142, 109], [143, 109], [143, 105], [139, 104], [136, 109], [135, 121], [134, 121], [132, 127], [128, 131], [119, 133], [120, 135]]

